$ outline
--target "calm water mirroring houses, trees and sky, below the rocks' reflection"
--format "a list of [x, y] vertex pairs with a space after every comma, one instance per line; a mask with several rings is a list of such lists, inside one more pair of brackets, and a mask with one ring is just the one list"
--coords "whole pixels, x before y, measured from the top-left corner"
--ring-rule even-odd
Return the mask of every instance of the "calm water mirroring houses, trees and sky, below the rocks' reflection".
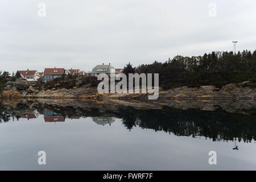
[[256, 169], [254, 111], [18, 105], [0, 113], [0, 169]]

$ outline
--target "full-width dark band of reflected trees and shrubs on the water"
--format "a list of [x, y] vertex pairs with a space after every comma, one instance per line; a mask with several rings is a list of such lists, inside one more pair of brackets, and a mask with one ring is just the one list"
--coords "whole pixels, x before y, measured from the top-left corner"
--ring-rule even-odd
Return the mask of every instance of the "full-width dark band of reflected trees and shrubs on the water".
[[[43, 113], [46, 106], [36, 108]], [[165, 131], [177, 136], [206, 137], [212, 140], [233, 140], [250, 142], [256, 136], [256, 115], [251, 110], [250, 115], [227, 113], [222, 110], [201, 111], [196, 109], [179, 110], [166, 107], [162, 110], [138, 110], [132, 107], [119, 109], [118, 111], [98, 109], [81, 109], [79, 107], [47, 106], [63, 117], [117, 117], [122, 118], [122, 124], [128, 130], [134, 126], [142, 129], [154, 129]], [[27, 108], [28, 110], [29, 108]], [[26, 106], [18, 105], [15, 109], [6, 109], [0, 105], [0, 122], [7, 122], [12, 117], [19, 118], [24, 113]], [[26, 110], [26, 111], [27, 111]], [[15, 114], [16, 113], [16, 114]]]

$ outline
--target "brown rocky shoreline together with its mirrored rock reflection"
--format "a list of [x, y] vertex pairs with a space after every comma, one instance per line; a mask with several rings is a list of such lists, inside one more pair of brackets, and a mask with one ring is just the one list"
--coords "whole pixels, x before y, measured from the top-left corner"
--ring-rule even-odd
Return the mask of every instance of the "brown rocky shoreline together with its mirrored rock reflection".
[[[34, 86], [32, 86], [34, 85]], [[7, 82], [7, 88], [0, 94], [6, 105], [11, 103], [47, 103], [56, 106], [84, 107], [134, 107], [137, 109], [161, 109], [164, 106], [176, 109], [200, 109], [214, 111], [219, 108], [229, 113], [247, 114], [256, 109], [255, 88], [246, 86], [246, 82], [225, 85], [188, 88], [183, 86], [170, 90], [159, 90], [157, 100], [148, 100], [147, 94], [99, 94], [97, 88], [89, 85], [72, 89], [53, 88], [38, 90], [36, 84], [19, 79]]]

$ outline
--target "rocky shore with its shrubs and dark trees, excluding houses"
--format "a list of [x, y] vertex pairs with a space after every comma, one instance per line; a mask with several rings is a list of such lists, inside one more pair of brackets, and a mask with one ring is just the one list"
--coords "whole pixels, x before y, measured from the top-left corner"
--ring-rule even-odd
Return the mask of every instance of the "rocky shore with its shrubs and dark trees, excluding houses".
[[[164, 63], [155, 61], [123, 73], [159, 73], [159, 99], [255, 100], [256, 50], [212, 52], [204, 56], [175, 56]], [[76, 98], [81, 100], [144, 100], [147, 94], [99, 94], [100, 81], [92, 76], [63, 75], [47, 83], [26, 81], [16, 72], [0, 72], [0, 98]], [[149, 102], [149, 101], [148, 101]]]

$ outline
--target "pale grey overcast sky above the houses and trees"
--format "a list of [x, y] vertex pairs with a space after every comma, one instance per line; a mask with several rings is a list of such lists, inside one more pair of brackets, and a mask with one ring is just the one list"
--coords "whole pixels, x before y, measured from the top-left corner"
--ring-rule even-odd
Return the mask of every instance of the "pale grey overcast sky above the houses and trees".
[[123, 68], [233, 51], [234, 40], [254, 51], [255, 22], [255, 0], [1, 0], [0, 71]]

